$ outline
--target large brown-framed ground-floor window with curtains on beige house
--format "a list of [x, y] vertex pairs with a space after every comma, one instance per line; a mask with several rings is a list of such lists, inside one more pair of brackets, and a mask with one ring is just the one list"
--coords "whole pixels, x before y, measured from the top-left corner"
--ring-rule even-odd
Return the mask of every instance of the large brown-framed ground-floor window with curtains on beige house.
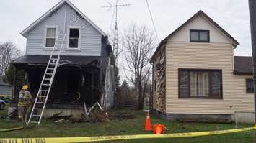
[[222, 98], [221, 70], [180, 69], [179, 98]]

